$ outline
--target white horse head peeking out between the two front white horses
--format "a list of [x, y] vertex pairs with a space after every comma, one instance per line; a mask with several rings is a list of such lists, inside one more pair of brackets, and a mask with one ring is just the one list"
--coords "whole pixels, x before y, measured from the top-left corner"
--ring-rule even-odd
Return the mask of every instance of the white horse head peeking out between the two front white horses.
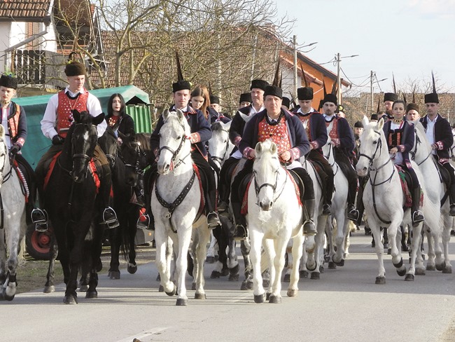
[[228, 123], [217, 121], [211, 125], [212, 136], [209, 140], [209, 155], [220, 170], [234, 148], [234, 144], [229, 139], [231, 123], [232, 121]]

